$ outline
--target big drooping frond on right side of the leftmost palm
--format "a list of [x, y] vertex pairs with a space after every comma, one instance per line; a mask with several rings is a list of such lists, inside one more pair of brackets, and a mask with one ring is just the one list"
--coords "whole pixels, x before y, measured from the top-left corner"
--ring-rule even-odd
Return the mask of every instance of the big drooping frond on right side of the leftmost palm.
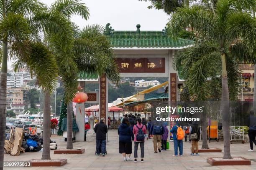
[[17, 61], [13, 65], [15, 70], [26, 65], [29, 71], [37, 76], [39, 87], [52, 92], [57, 77], [57, 65], [52, 52], [41, 43], [29, 41], [14, 42], [12, 50], [17, 56]]

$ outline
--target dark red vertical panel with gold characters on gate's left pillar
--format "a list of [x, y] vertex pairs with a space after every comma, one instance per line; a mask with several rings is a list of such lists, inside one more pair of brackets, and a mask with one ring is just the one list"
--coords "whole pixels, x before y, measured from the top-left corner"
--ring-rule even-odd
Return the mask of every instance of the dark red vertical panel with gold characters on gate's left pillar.
[[107, 113], [107, 77], [102, 75], [100, 77], [100, 118], [106, 119]]

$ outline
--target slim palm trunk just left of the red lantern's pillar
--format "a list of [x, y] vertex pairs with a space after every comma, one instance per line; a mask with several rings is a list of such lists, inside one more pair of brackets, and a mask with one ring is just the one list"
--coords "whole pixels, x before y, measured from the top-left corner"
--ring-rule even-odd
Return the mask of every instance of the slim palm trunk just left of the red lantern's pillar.
[[67, 149], [73, 149], [72, 126], [73, 126], [72, 102], [69, 102], [67, 104]]

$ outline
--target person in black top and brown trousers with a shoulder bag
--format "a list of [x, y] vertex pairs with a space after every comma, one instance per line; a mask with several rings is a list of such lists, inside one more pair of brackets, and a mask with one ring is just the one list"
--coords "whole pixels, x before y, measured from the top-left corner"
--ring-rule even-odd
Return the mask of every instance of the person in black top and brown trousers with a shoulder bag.
[[198, 156], [198, 141], [200, 140], [200, 127], [197, 122], [194, 121], [189, 127], [189, 135], [191, 140], [191, 156]]

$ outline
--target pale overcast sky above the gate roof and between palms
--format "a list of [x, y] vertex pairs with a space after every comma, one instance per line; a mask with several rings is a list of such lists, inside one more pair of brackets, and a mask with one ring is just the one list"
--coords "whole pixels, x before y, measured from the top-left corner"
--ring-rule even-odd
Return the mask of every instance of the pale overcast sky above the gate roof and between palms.
[[[54, 0], [41, 0], [46, 5], [51, 5]], [[147, 9], [150, 2], [138, 0], [82, 0], [89, 7], [90, 18], [83, 20], [73, 16], [72, 21], [83, 28], [86, 25], [99, 24], [105, 27], [110, 23], [115, 30], [136, 30], [136, 25], [141, 25], [141, 30], [162, 30], [169, 18], [161, 10]], [[8, 62], [9, 69], [11, 62]]]

